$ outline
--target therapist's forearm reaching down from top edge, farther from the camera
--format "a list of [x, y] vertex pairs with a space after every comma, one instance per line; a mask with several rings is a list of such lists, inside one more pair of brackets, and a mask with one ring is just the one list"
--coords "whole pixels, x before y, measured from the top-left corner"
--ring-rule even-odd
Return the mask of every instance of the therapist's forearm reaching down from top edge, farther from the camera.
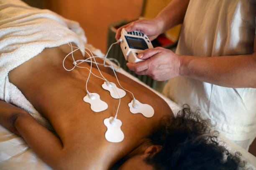
[[161, 32], [183, 23], [189, 0], [172, 0], [155, 18], [161, 23]]

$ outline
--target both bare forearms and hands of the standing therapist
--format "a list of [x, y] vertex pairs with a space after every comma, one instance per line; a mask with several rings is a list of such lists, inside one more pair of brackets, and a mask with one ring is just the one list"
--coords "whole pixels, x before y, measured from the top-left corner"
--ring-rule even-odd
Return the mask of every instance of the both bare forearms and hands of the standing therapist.
[[[125, 28], [128, 32], [139, 30], [153, 40], [183, 22], [189, 0], [179, 2], [172, 0], [153, 20], [138, 20], [124, 25], [118, 29], [115, 38], [118, 40], [121, 29]], [[148, 75], [155, 80], [186, 76], [224, 87], [256, 88], [256, 37], [254, 52], [248, 55], [197, 57], [177, 55], [171, 50], [156, 47], [141, 52], [138, 58], [145, 61], [127, 63], [127, 67], [138, 75]]]

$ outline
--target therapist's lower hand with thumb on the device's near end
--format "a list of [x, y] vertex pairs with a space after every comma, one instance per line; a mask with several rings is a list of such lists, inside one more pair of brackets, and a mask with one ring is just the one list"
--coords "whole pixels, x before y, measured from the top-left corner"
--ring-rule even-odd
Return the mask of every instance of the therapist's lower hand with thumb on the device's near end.
[[148, 75], [157, 81], [169, 80], [179, 76], [181, 59], [180, 55], [172, 50], [162, 47], [146, 49], [138, 55], [145, 61], [138, 63], [127, 63], [127, 67], [137, 75]]

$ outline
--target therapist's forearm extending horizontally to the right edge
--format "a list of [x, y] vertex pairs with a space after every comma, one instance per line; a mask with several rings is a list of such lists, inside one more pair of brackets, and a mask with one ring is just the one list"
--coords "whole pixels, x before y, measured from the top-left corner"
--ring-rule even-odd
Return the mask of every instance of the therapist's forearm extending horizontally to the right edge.
[[224, 87], [256, 88], [256, 53], [220, 57], [182, 55], [179, 74]]

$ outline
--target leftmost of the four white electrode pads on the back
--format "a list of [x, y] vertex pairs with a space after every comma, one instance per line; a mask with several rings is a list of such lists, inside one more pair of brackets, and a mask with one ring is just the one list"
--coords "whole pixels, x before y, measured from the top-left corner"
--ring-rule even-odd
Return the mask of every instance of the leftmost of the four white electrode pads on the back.
[[100, 95], [95, 92], [90, 93], [90, 95], [87, 94], [86, 96], [84, 96], [84, 101], [90, 103], [91, 109], [94, 112], [101, 112], [108, 108], [108, 104], [100, 100]]

